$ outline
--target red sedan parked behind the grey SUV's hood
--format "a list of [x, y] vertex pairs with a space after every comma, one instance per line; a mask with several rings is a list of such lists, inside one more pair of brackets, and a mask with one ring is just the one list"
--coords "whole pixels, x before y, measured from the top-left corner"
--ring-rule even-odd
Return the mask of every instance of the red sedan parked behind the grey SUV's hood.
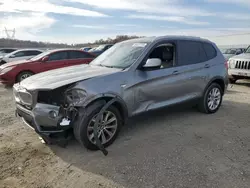
[[0, 66], [0, 83], [12, 85], [36, 73], [72, 65], [87, 64], [94, 58], [95, 55], [82, 50], [48, 50], [31, 59], [13, 61]]

